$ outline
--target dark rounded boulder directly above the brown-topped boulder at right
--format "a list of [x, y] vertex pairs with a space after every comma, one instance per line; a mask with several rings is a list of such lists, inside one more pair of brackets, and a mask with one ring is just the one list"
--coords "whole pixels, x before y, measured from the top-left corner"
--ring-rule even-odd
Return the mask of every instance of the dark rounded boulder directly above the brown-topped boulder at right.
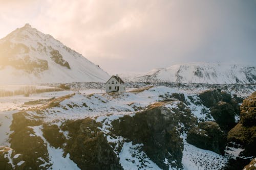
[[235, 111], [231, 104], [219, 102], [216, 106], [210, 109], [210, 114], [222, 129], [230, 130], [235, 126]]

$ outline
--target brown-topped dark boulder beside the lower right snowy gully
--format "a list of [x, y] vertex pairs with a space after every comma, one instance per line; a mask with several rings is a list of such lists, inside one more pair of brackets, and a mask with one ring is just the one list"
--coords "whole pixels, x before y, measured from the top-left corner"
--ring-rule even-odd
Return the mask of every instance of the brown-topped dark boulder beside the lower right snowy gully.
[[188, 132], [187, 142], [201, 149], [224, 154], [226, 137], [217, 123], [203, 122]]

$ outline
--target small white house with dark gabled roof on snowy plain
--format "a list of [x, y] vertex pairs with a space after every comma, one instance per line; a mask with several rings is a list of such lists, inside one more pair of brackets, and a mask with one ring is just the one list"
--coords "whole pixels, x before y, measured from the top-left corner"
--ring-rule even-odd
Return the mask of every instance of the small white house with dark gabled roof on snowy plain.
[[120, 77], [112, 76], [105, 84], [106, 93], [108, 92], [125, 92], [124, 82]]

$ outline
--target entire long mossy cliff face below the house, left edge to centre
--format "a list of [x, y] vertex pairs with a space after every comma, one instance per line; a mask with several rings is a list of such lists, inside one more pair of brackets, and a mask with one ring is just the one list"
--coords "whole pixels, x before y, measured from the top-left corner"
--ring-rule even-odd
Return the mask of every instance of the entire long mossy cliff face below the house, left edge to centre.
[[[144, 153], [160, 168], [181, 169], [183, 140], [180, 136], [197, 125], [190, 109], [177, 100], [156, 102], [144, 111], [117, 117], [108, 124], [109, 132], [103, 130], [104, 120], [84, 118], [60, 124], [44, 122], [42, 116], [40, 110], [13, 114], [10, 144], [13, 153], [20, 157], [16, 159], [11, 154], [13, 164], [0, 157], [1, 168], [11, 165], [16, 169], [22, 163], [23, 169], [49, 169], [54, 162], [48, 151], [54, 147], [63, 150], [63, 157], [68, 156], [81, 169], [123, 169], [119, 154], [124, 143], [132, 142], [141, 147], [138, 155]], [[109, 140], [118, 136], [123, 140], [116, 147]], [[141, 168], [146, 168], [142, 159]]]

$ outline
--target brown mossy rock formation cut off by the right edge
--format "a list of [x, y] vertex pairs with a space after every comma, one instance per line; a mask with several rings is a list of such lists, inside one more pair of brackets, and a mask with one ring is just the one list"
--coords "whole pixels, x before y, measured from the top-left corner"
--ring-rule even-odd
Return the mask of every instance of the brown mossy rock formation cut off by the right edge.
[[[230, 159], [225, 170], [242, 169], [250, 162], [252, 157], [256, 156], [256, 122], [255, 122], [255, 105], [256, 92], [252, 93], [249, 98], [243, 101], [241, 105], [240, 122], [228, 132], [227, 139], [229, 143], [242, 149], [239, 157]], [[248, 166], [246, 166], [248, 169]]]

